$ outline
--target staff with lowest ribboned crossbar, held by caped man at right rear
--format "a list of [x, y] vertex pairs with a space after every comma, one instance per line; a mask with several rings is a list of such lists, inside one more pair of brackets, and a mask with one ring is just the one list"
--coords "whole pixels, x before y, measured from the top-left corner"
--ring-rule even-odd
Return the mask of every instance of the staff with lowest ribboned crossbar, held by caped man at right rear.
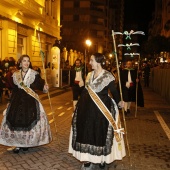
[[[137, 69], [137, 80], [139, 79], [138, 73], [139, 73], [139, 63], [140, 63], [140, 54], [139, 53], [125, 53], [124, 55], [130, 55], [131, 57], [134, 57], [135, 55], [138, 55], [138, 69]], [[137, 110], [138, 110], [138, 81], [136, 82], [136, 107], [135, 107], [135, 117], [137, 117]]]

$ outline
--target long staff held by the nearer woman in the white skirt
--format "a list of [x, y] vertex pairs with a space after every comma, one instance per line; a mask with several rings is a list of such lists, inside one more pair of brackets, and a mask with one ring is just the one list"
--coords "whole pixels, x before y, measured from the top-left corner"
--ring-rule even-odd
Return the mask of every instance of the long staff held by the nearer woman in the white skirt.
[[[115, 55], [115, 59], [116, 59], [116, 67], [117, 67], [117, 75], [118, 75], [118, 82], [119, 82], [119, 89], [120, 89], [120, 97], [121, 97], [121, 101], [123, 101], [122, 87], [121, 87], [121, 81], [120, 81], [120, 72], [119, 72], [119, 64], [118, 64], [116, 42], [115, 42], [115, 35], [116, 34], [112, 30], [113, 45], [114, 45], [114, 52], [113, 52], [113, 54]], [[128, 148], [129, 158], [130, 158], [130, 149], [129, 149], [129, 142], [128, 142], [128, 138], [127, 138], [126, 120], [125, 120], [125, 113], [124, 113], [124, 109], [123, 108], [122, 108], [122, 113], [123, 113], [123, 121], [124, 121], [124, 127], [125, 127], [126, 143], [127, 143], [127, 148]]]

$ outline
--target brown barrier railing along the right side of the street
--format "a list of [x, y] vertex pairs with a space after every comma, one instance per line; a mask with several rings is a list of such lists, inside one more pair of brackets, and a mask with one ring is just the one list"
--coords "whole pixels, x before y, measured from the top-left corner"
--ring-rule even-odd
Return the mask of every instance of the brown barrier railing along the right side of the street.
[[170, 103], [170, 69], [151, 69], [150, 87]]

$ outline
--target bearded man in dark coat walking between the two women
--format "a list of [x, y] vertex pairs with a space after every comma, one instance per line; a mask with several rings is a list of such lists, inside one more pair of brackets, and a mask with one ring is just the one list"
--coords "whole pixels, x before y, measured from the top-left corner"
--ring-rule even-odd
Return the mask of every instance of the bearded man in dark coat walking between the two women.
[[70, 86], [73, 93], [73, 109], [75, 109], [78, 98], [84, 89], [85, 76], [85, 67], [82, 65], [80, 59], [76, 59], [74, 66], [70, 70]]

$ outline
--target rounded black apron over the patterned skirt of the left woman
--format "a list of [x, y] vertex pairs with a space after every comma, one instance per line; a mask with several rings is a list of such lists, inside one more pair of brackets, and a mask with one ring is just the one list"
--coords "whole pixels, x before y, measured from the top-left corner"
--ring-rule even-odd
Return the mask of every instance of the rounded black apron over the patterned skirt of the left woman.
[[13, 92], [7, 108], [6, 123], [10, 130], [29, 131], [40, 120], [39, 103], [23, 89]]

